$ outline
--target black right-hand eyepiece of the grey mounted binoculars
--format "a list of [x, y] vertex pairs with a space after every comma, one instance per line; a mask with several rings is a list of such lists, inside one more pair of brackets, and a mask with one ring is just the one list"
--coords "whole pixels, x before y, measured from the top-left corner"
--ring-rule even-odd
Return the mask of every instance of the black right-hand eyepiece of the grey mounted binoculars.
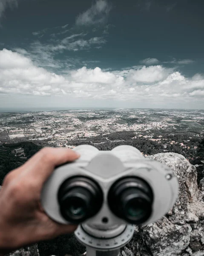
[[142, 224], [152, 213], [153, 194], [142, 179], [128, 177], [118, 180], [109, 190], [112, 212], [132, 224]]

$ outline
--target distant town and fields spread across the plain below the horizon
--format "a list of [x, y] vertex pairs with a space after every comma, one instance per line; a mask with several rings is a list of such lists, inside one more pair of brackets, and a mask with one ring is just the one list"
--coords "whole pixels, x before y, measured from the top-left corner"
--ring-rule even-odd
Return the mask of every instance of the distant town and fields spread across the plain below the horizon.
[[[0, 145], [42, 141], [50, 146], [74, 148], [79, 140], [92, 145], [126, 141], [126, 138], [110, 138], [110, 134], [119, 132], [132, 132], [132, 140], [158, 143], [163, 152], [169, 151], [169, 145], [179, 145], [186, 154], [191, 149], [196, 153], [196, 142], [204, 138], [204, 111], [110, 109], [0, 113]], [[13, 153], [23, 156], [22, 148], [16, 148]]]

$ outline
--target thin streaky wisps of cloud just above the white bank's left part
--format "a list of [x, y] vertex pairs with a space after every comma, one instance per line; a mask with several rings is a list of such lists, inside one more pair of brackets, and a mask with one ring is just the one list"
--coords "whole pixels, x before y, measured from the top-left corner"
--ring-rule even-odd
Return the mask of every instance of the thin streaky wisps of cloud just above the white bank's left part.
[[71, 67], [75, 67], [76, 64], [81, 66], [82, 60], [76, 57], [69, 57], [69, 55], [65, 60], [56, 59], [55, 56], [58, 53], [89, 50], [92, 47], [101, 48], [101, 45], [106, 43], [103, 37], [93, 37], [85, 40], [84, 36], [86, 35], [85, 33], [73, 34], [63, 39], [52, 40], [48, 44], [37, 40], [32, 42], [26, 49], [14, 48], [13, 50], [32, 59], [37, 66], [55, 70], [55, 72], [56, 69], [61, 69], [64, 72], [63, 69], [69, 70]]

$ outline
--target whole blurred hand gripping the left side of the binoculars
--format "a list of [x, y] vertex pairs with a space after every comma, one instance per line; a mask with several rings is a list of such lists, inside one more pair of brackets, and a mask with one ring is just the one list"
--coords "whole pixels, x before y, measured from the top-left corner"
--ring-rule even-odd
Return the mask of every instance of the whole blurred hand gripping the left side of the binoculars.
[[68, 148], [46, 147], [6, 175], [0, 191], [0, 255], [75, 231], [77, 225], [59, 224], [46, 215], [40, 193], [56, 166], [78, 157]]

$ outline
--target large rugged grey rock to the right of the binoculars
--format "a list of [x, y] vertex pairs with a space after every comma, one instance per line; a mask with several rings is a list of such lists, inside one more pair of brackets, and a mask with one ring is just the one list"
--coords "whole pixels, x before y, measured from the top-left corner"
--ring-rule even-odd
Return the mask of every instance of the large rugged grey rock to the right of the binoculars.
[[[160, 153], [148, 158], [172, 169], [179, 182], [178, 199], [163, 218], [136, 227], [125, 247], [134, 256], [204, 256], [204, 192], [198, 188], [195, 166], [177, 153]], [[125, 252], [125, 247], [121, 252]]]

